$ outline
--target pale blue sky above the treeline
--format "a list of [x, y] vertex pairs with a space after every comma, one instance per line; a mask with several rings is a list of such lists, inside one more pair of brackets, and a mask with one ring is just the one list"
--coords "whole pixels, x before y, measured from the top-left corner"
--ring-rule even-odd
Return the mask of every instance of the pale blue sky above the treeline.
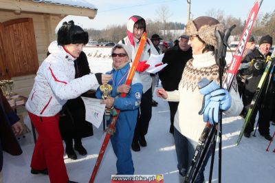
[[[88, 0], [86, 0], [88, 1]], [[225, 16], [232, 15], [232, 17], [241, 18], [243, 21], [247, 19], [254, 4], [254, 0], [190, 0], [191, 1], [191, 19], [208, 14], [210, 10], [221, 10]], [[171, 16], [168, 21], [186, 23], [187, 21], [187, 1], [186, 0], [89, 0], [98, 8], [98, 14], [95, 19], [87, 17], [68, 16], [63, 21], [74, 20], [76, 24], [83, 28], [94, 28], [102, 30], [108, 25], [122, 25], [134, 14], [140, 15], [144, 19], [151, 19], [153, 21], [158, 19], [157, 9], [161, 6], [167, 6]], [[272, 0], [264, 0], [259, 15], [270, 13], [275, 10], [271, 6]], [[58, 24], [58, 27], [61, 26]]]

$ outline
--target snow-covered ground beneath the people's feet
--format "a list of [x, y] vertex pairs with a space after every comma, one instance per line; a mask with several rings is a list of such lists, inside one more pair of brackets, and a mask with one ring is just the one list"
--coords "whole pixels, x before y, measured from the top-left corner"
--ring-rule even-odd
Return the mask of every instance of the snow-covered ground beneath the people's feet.
[[[110, 48], [86, 47], [91, 70], [93, 72], [106, 72], [111, 69]], [[230, 59], [230, 54], [228, 54]], [[177, 157], [173, 136], [168, 132], [170, 116], [168, 104], [156, 96], [153, 97], [159, 103], [153, 107], [153, 117], [146, 135], [147, 147], [142, 147], [140, 152], [133, 153], [135, 174], [164, 174], [164, 182], [179, 182], [177, 171]], [[28, 116], [24, 118], [30, 127]], [[222, 148], [222, 180], [221, 182], [275, 182], [275, 142], [267, 152], [268, 141], [256, 132], [256, 137], [243, 138], [237, 147], [235, 142], [243, 125], [243, 119], [239, 116], [223, 119], [223, 148]], [[275, 127], [271, 126], [270, 133], [274, 133]], [[67, 173], [70, 180], [85, 183], [89, 182], [91, 172], [94, 169], [96, 158], [100, 150], [104, 132], [102, 126], [94, 127], [94, 136], [83, 139], [84, 147], [88, 155], [78, 155], [78, 160], [69, 160], [64, 155]], [[5, 183], [34, 183], [50, 182], [46, 175], [32, 175], [30, 173], [30, 160], [34, 149], [32, 134], [19, 140], [23, 149], [21, 156], [12, 156], [4, 153], [3, 178]], [[217, 182], [218, 177], [218, 149], [214, 162], [212, 181]], [[96, 176], [98, 183], [107, 183], [111, 175], [116, 173], [115, 155], [111, 143], [104, 154], [102, 164]], [[209, 164], [206, 167], [206, 180], [209, 174]], [[207, 181], [206, 181], [207, 182]]]

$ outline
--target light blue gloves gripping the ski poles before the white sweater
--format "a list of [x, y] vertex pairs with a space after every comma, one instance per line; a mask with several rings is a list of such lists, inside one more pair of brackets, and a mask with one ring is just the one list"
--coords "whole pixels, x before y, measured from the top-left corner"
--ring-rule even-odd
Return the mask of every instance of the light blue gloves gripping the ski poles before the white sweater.
[[219, 109], [228, 110], [231, 107], [231, 96], [226, 89], [216, 89], [203, 97], [203, 106], [199, 115], [203, 114], [203, 121], [210, 124], [219, 122]]

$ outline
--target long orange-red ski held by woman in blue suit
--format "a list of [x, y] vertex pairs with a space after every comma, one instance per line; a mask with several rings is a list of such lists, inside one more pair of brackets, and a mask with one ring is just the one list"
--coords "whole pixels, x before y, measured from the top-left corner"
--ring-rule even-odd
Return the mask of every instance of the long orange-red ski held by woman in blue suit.
[[[146, 43], [146, 32], [144, 32], [142, 34], [142, 37], [140, 39], [140, 45], [137, 48], [137, 52], [135, 54], [135, 59], [133, 61], [131, 69], [129, 70], [129, 74], [126, 78], [126, 82], [125, 82], [126, 85], [130, 85], [131, 82], [132, 82], [133, 76], [135, 75], [135, 69], [137, 69], [137, 65], [140, 61], [140, 56], [142, 56], [142, 52], [143, 52], [143, 48], [144, 48], [145, 43]], [[121, 97], [125, 97], [125, 96], [126, 96], [126, 94], [121, 94]], [[115, 109], [115, 110], [119, 115], [120, 110], [118, 110], [118, 109]], [[114, 128], [115, 128], [115, 123], [116, 123], [116, 120], [118, 120], [118, 115], [113, 117], [113, 120], [111, 121], [109, 127], [107, 128], [107, 133], [106, 133], [106, 136], [105, 136], [104, 141], [102, 143], [101, 149], [99, 151], [98, 159], [96, 160], [96, 164], [94, 166], [93, 173], [91, 174], [91, 178], [89, 180], [89, 183], [94, 183], [94, 180], [96, 178], [96, 173], [98, 172], [98, 168], [100, 166], [100, 162], [103, 158], [103, 155], [104, 155], [104, 152], [107, 148], [110, 137], [111, 137], [111, 135], [113, 135], [113, 131], [114, 131]]]

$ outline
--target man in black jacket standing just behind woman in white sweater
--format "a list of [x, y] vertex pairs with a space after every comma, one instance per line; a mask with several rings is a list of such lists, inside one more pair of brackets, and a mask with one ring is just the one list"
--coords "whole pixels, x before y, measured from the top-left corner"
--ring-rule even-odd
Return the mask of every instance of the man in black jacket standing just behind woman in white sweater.
[[[162, 63], [168, 65], [159, 72], [159, 79], [162, 81], [162, 87], [166, 91], [178, 89], [182, 72], [187, 61], [192, 58], [192, 48], [188, 45], [189, 37], [179, 36], [179, 45], [171, 47], [164, 53]], [[170, 107], [170, 133], [174, 133], [174, 117], [177, 111], [178, 102], [168, 102]]]

